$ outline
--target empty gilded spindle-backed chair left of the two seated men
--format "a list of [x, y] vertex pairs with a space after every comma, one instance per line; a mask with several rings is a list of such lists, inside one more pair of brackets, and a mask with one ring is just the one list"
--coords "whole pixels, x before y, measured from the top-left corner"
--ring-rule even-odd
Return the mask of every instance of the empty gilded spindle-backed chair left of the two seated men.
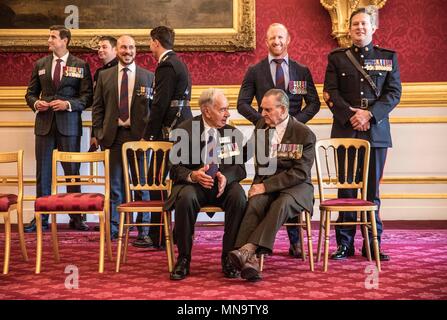
[[[116, 272], [120, 270], [121, 252], [124, 239], [123, 262], [127, 260], [129, 242], [129, 227], [163, 227], [168, 257], [168, 270], [174, 268], [174, 245], [172, 242], [172, 215], [163, 209], [164, 200], [135, 200], [135, 192], [159, 191], [162, 196], [169, 197], [171, 180], [165, 179], [168, 170], [169, 151], [171, 142], [165, 141], [131, 141], [123, 144], [123, 170], [126, 191], [126, 202], [118, 206], [120, 225], [118, 234], [118, 250], [116, 259]], [[132, 222], [131, 214], [134, 212], [160, 212], [160, 223]], [[162, 232], [160, 232], [160, 235]]]

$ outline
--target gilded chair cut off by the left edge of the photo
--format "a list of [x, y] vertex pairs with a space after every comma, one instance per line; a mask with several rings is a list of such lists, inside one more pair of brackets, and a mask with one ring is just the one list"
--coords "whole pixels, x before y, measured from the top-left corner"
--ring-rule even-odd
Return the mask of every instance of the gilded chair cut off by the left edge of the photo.
[[9, 271], [9, 258], [11, 253], [11, 212], [17, 212], [17, 228], [20, 239], [22, 257], [28, 261], [26, 253], [25, 235], [23, 232], [23, 150], [17, 152], [1, 152], [0, 163], [15, 163], [16, 175], [0, 175], [0, 186], [17, 187], [17, 193], [0, 193], [0, 214], [5, 224], [5, 257], [3, 262], [3, 274]]

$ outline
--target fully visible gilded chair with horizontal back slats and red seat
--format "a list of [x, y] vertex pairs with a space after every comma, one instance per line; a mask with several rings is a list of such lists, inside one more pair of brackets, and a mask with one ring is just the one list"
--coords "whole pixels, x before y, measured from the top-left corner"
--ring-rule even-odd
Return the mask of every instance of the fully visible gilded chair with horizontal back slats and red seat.
[[[57, 164], [63, 162], [104, 164], [104, 174], [58, 175]], [[65, 186], [100, 186], [104, 193], [61, 193], [58, 188]], [[37, 226], [36, 273], [40, 273], [42, 260], [42, 219], [41, 215], [51, 215], [51, 239], [56, 262], [60, 261], [57, 239], [56, 216], [58, 214], [94, 214], [99, 217], [99, 273], [104, 272], [105, 243], [107, 254], [112, 258], [110, 241], [110, 181], [109, 150], [101, 152], [53, 151], [51, 195], [36, 199], [35, 216]]]

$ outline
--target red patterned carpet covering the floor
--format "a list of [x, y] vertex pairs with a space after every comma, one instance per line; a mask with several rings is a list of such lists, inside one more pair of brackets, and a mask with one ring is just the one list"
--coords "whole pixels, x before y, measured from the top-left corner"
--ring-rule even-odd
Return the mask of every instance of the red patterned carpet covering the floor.
[[[47, 234], [45, 238], [47, 244], [49, 236]], [[378, 282], [368, 280], [371, 273], [366, 267], [371, 264], [358, 252], [360, 238], [356, 242], [356, 256], [344, 262], [330, 261], [327, 273], [322, 272], [321, 263], [316, 264], [315, 272], [310, 272], [307, 262], [287, 256], [284, 230], [278, 234], [275, 255], [266, 259], [263, 281], [247, 283], [241, 279], [225, 279], [220, 270], [221, 236], [222, 231], [217, 229], [197, 231], [191, 275], [180, 282], [169, 280], [164, 252], [131, 246], [128, 263], [122, 266], [120, 273], [115, 273], [114, 263], [106, 260], [106, 271], [100, 275], [97, 273], [98, 234], [66, 230], [59, 234], [61, 263], [53, 261], [51, 248], [45, 245], [42, 273], [35, 275], [34, 235], [27, 235], [31, 258], [28, 263], [22, 261], [18, 239], [14, 237], [10, 273], [0, 275], [0, 300], [447, 299], [446, 229], [402, 230], [388, 227], [383, 248], [391, 255], [391, 261], [382, 264]], [[1, 263], [2, 237], [3, 233], [0, 237]], [[314, 231], [315, 251], [316, 239], [317, 232]], [[335, 239], [331, 239], [333, 248], [334, 243]], [[65, 287], [69, 276], [64, 273], [67, 265], [78, 267], [78, 289]], [[378, 283], [378, 288], [366, 288], [368, 284], [371, 287], [375, 283]]]

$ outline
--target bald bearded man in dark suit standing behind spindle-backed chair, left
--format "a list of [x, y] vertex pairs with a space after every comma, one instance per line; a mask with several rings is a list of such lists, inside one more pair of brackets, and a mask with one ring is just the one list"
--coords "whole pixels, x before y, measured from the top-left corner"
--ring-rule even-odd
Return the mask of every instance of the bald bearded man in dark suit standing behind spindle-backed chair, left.
[[[118, 236], [117, 207], [124, 201], [122, 146], [142, 137], [149, 115], [153, 74], [135, 64], [135, 40], [121, 36], [117, 41], [118, 65], [101, 71], [92, 105], [93, 131], [102, 148], [110, 149], [111, 236]], [[142, 195], [138, 195], [142, 197]], [[146, 195], [147, 196], [147, 195]], [[147, 221], [148, 214], [139, 215]], [[138, 240], [150, 246], [147, 228], [139, 228]]]

